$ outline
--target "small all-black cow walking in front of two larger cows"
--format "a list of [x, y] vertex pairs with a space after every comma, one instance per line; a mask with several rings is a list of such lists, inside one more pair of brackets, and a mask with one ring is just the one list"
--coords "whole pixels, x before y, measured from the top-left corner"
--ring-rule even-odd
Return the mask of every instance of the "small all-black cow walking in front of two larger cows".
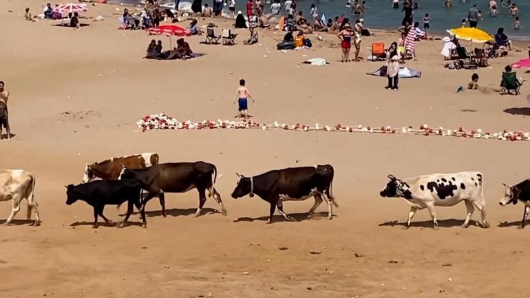
[[96, 180], [78, 185], [69, 184], [65, 187], [67, 189], [67, 205], [82, 200], [94, 207], [94, 228], [98, 227], [98, 215], [105, 220], [106, 224], [112, 224], [112, 220], [109, 220], [103, 215], [105, 205], [120, 205], [124, 202], [128, 203], [127, 215], [125, 215], [125, 219], [121, 222], [120, 227], [127, 225], [127, 220], [131, 216], [134, 205], [142, 216], [142, 227], [147, 228], [145, 211], [141, 205], [140, 192], [142, 188], [140, 182], [134, 180]]

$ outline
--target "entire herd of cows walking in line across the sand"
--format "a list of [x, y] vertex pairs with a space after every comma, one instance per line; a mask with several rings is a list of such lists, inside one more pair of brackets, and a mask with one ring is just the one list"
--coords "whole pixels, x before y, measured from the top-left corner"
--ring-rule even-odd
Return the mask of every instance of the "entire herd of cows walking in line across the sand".
[[[142, 153], [132, 156], [111, 158], [103, 162], [86, 164], [83, 183], [66, 186], [67, 200], [70, 205], [78, 200], [85, 201], [94, 209], [94, 227], [98, 226], [98, 217], [111, 224], [103, 209], [105, 205], [116, 205], [127, 202], [127, 213], [120, 226], [127, 225], [127, 220], [134, 207], [140, 212], [142, 226], [147, 227], [145, 206], [149, 200], [158, 197], [162, 215], [166, 216], [165, 193], [184, 193], [197, 189], [199, 205], [195, 216], [201, 214], [208, 198], [220, 205], [220, 212], [226, 215], [226, 208], [220, 193], [215, 189], [218, 171], [215, 165], [206, 162], [174, 162], [159, 164], [157, 153]], [[334, 169], [329, 164], [313, 167], [296, 167], [272, 170], [261, 175], [245, 177], [237, 174], [238, 180], [232, 198], [258, 195], [270, 204], [267, 223], [273, 221], [273, 215], [279, 213], [288, 221], [294, 220], [284, 212], [283, 202], [301, 201], [315, 198], [315, 204], [308, 211], [308, 217], [324, 201], [328, 205], [328, 219], [332, 219], [333, 206], [337, 206], [332, 195]], [[99, 179], [98, 179], [99, 178]], [[98, 180], [96, 180], [98, 179]], [[465, 202], [467, 216], [463, 227], [477, 209], [480, 211], [480, 224], [488, 228], [485, 200], [483, 194], [483, 174], [480, 172], [435, 173], [414, 178], [399, 179], [388, 175], [388, 183], [379, 193], [381, 197], [402, 198], [410, 205], [410, 212], [405, 226], [408, 228], [417, 210], [427, 209], [432, 217], [434, 228], [438, 228], [435, 206], [454, 206]], [[32, 211], [35, 213], [34, 225], [39, 225], [38, 204], [34, 200], [35, 177], [24, 170], [0, 170], [0, 202], [12, 200], [12, 211], [5, 224], [10, 224], [19, 212], [23, 199], [28, 200], [28, 220]], [[530, 213], [530, 180], [516, 184], [504, 185], [501, 206], [524, 204], [524, 213], [520, 228], [524, 228]]]

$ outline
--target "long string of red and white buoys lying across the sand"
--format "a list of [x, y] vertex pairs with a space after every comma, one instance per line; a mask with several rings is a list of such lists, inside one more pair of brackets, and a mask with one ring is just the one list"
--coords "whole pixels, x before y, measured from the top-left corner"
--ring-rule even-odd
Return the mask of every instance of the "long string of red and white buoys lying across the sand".
[[203, 120], [202, 122], [193, 122], [187, 120], [181, 122], [176, 118], [167, 116], [166, 114], [148, 115], [140, 119], [136, 125], [142, 129], [142, 132], [159, 129], [187, 129], [187, 130], [201, 130], [201, 129], [261, 129], [267, 130], [287, 130], [287, 131], [330, 131], [330, 132], [349, 132], [349, 133], [368, 133], [368, 134], [410, 134], [416, 136], [452, 136], [458, 138], [477, 138], [483, 140], [509, 140], [509, 141], [529, 141], [530, 133], [523, 131], [508, 131], [503, 129], [500, 132], [490, 134], [482, 129], [445, 129], [443, 127], [430, 127], [427, 124], [420, 125], [418, 128], [412, 126], [407, 127], [390, 127], [390, 126], [363, 126], [363, 125], [304, 125], [296, 123], [295, 125], [287, 125], [285, 123], [257, 123], [253, 120]]

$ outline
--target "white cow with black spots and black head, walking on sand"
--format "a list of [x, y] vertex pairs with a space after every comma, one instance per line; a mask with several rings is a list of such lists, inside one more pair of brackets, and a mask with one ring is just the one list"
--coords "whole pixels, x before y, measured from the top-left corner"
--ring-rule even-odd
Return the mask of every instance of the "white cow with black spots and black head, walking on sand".
[[434, 173], [407, 179], [388, 175], [388, 179], [390, 182], [379, 195], [383, 198], [403, 198], [410, 205], [405, 228], [410, 227], [410, 221], [416, 211], [425, 208], [429, 210], [434, 228], [438, 228], [434, 206], [454, 206], [462, 200], [467, 208], [467, 217], [462, 227], [469, 226], [469, 220], [476, 208], [482, 214], [482, 226], [489, 228], [486, 220], [483, 174], [480, 172]]

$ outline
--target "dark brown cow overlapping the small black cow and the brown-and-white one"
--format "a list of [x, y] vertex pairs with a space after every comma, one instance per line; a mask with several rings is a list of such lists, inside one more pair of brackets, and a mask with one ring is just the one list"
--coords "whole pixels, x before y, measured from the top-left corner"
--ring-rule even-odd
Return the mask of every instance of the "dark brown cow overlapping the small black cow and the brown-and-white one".
[[142, 202], [142, 209], [151, 198], [158, 195], [162, 205], [162, 216], [166, 216], [165, 193], [185, 193], [191, 189], [199, 192], [199, 207], [195, 217], [199, 216], [202, 206], [206, 202], [206, 189], [208, 196], [215, 199], [221, 206], [222, 215], [226, 209], [221, 200], [221, 195], [215, 190], [217, 168], [206, 162], [175, 162], [156, 164], [147, 169], [128, 169], [123, 167], [120, 180], [133, 179], [142, 183], [142, 188], [147, 191], [147, 197]]

